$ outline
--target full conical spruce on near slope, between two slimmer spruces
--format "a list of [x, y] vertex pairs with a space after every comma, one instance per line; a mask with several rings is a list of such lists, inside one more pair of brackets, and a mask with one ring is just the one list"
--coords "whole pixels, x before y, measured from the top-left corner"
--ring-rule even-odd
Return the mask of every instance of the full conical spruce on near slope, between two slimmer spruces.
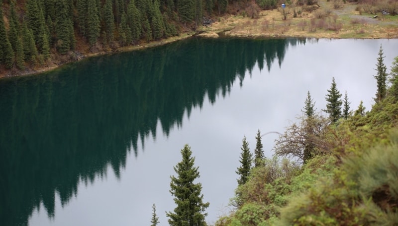
[[333, 122], [336, 122], [341, 117], [341, 105], [343, 101], [341, 100], [341, 94], [337, 90], [337, 85], [334, 80], [332, 79], [332, 85], [330, 90], [327, 90], [328, 94], [326, 94], [326, 109], [323, 110], [324, 112], [329, 114], [330, 119]]

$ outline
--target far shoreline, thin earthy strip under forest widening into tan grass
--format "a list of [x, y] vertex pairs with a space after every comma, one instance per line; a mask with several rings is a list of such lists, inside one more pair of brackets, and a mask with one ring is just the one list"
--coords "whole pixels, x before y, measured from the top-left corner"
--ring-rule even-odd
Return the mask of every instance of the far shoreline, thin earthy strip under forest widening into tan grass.
[[[332, 31], [330, 29], [318, 28], [312, 31], [307, 21], [314, 19], [312, 14], [307, 13], [298, 18], [290, 18], [283, 20], [278, 10], [263, 10], [257, 18], [249, 18], [241, 15], [226, 15], [218, 17], [218, 21], [213, 22], [209, 26], [200, 26], [197, 31], [183, 32], [179, 36], [142, 43], [134, 46], [118, 48], [115, 51], [101, 51], [98, 53], [87, 53], [77, 55], [75, 60], [68, 60], [62, 63], [51, 62], [44, 67], [31, 69], [31, 71], [18, 71], [12, 74], [11, 70], [0, 74], [0, 80], [14, 77], [33, 76], [43, 72], [57, 69], [65, 64], [80, 61], [93, 56], [103, 56], [107, 54], [116, 54], [123, 52], [132, 52], [147, 48], [166, 45], [172, 42], [192, 38], [195, 36], [204, 38], [248, 38], [248, 39], [286, 39], [286, 38], [314, 38], [314, 39], [398, 39], [398, 20], [385, 21], [384, 19], [373, 19], [370, 15], [362, 15], [356, 11], [352, 11], [355, 4], [347, 4], [341, 10], [348, 10], [345, 14], [341, 14], [339, 10], [334, 13], [341, 16], [340, 21], [334, 20], [334, 24], [341, 24], [340, 29]], [[350, 11], [351, 10], [351, 11]], [[340, 14], [339, 14], [340, 13]], [[335, 15], [336, 15], [335, 14]], [[398, 16], [397, 16], [398, 17]], [[348, 19], [347, 19], [348, 18]], [[360, 19], [358, 24], [353, 20]], [[329, 26], [333, 22], [328, 21]], [[347, 22], [348, 21], [348, 22]], [[302, 25], [302, 24], [305, 25]], [[344, 25], [344, 26], [343, 26]], [[308, 29], [308, 31], [306, 30]]]

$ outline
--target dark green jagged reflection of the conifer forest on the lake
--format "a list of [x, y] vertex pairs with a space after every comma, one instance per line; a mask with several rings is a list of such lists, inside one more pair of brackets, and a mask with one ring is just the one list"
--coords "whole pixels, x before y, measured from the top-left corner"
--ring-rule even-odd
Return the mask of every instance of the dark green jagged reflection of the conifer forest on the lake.
[[0, 81], [1, 225], [26, 225], [40, 203], [54, 216], [55, 193], [64, 205], [108, 165], [119, 176], [158, 120], [168, 135], [205, 94], [215, 103], [256, 63], [281, 66], [297, 43], [191, 39]]

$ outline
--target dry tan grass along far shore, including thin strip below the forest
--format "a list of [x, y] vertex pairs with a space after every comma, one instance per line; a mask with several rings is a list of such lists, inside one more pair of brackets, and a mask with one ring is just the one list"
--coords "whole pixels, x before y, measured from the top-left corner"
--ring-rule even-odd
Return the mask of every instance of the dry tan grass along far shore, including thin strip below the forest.
[[[281, 8], [262, 10], [254, 18], [245, 13], [228, 14], [213, 18], [215, 19], [214, 23], [207, 27], [201, 26], [196, 32], [183, 32], [179, 36], [140, 45], [120, 47], [117, 50], [105, 50], [97, 53], [84, 52], [81, 53], [82, 57], [79, 57], [79, 59], [152, 48], [195, 35], [207, 38], [218, 38], [220, 35], [235, 38], [398, 38], [398, 15], [365, 13], [357, 3], [342, 3], [335, 8], [332, 1], [319, 0], [318, 5], [311, 6], [311, 8], [305, 6], [287, 7], [285, 13], [286, 19], [284, 19]], [[374, 18], [375, 16], [376, 18]], [[69, 62], [71, 61], [49, 62], [46, 66], [11, 73], [10, 71], [1, 71], [0, 78], [34, 75], [53, 70]]]

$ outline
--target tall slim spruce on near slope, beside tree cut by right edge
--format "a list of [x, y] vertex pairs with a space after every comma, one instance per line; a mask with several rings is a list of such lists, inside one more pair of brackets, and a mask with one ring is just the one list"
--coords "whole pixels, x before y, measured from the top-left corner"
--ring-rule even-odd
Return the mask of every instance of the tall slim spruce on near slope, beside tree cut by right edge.
[[387, 94], [387, 67], [384, 64], [384, 57], [383, 56], [383, 47], [380, 45], [380, 50], [379, 50], [379, 57], [377, 57], [377, 64], [376, 64], [376, 71], [377, 75], [373, 76], [377, 80], [377, 93], [376, 93], [376, 102], [380, 102], [386, 97]]

